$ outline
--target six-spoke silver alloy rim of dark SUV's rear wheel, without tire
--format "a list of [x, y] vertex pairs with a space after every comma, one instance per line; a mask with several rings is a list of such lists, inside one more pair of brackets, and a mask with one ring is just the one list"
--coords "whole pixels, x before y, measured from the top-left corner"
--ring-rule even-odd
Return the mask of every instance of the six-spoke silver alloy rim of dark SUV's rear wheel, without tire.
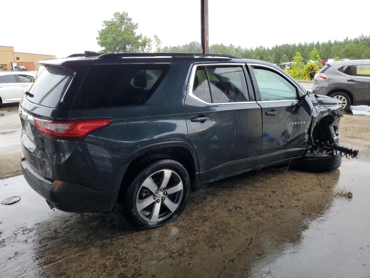
[[136, 197], [136, 209], [141, 218], [159, 222], [172, 215], [182, 201], [184, 186], [173, 170], [157, 171], [140, 185]]

